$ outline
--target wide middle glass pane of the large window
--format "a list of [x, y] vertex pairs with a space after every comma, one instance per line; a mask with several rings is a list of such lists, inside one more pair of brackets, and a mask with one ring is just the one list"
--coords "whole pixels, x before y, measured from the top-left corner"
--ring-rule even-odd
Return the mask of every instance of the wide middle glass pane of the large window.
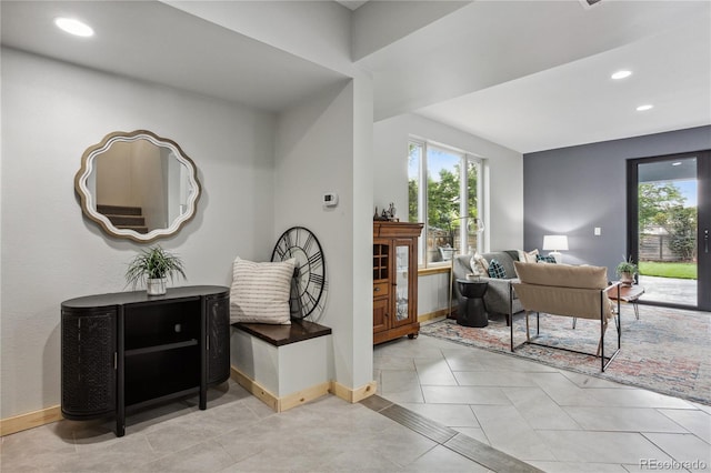
[[461, 162], [459, 153], [434, 147], [427, 149], [428, 263], [450, 261], [461, 243]]

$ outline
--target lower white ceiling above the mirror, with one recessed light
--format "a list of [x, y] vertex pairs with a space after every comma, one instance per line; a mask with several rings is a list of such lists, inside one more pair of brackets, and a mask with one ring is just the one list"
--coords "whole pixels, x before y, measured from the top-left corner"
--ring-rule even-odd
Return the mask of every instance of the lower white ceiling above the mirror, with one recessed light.
[[[73, 64], [280, 111], [346, 76], [154, 1], [7, 1], [2, 44]], [[54, 28], [71, 16], [90, 40]]]

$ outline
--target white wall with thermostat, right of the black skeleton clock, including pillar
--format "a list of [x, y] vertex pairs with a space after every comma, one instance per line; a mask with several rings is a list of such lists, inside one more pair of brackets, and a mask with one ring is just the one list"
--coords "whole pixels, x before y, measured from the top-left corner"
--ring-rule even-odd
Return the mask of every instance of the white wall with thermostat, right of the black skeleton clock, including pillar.
[[[370, 223], [369, 214], [357, 215], [353, 211], [358, 208], [354, 199], [361, 195], [353, 169], [357, 97], [354, 81], [349, 80], [280, 114], [273, 212], [274, 240], [283, 230], [302, 225], [321, 243], [328, 299], [322, 316], [316, 321], [333, 330], [331, 379], [351, 389], [372, 380], [372, 361], [356, 362], [361, 358], [372, 360], [372, 319], [357, 312], [372, 299], [371, 285], [367, 284], [372, 274], [363, 271], [371, 260], [354, 252], [359, 248], [354, 239]], [[326, 192], [338, 194], [338, 205], [323, 207]], [[365, 262], [354, 264], [361, 260]], [[370, 339], [360, 336], [363, 332], [370, 333]], [[309, 370], [308, 362], [303, 370]]]

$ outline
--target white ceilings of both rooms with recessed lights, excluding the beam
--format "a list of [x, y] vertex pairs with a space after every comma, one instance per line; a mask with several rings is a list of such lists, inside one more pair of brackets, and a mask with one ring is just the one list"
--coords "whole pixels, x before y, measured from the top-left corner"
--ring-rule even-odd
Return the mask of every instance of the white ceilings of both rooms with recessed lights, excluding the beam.
[[[428, 2], [339, 3], [377, 37]], [[3, 46], [268, 111], [348, 79], [162, 2], [0, 7]], [[68, 12], [98, 34], [59, 32]], [[522, 153], [711, 124], [709, 1], [461, 1], [373, 49], [356, 64], [375, 120], [418, 113]]]

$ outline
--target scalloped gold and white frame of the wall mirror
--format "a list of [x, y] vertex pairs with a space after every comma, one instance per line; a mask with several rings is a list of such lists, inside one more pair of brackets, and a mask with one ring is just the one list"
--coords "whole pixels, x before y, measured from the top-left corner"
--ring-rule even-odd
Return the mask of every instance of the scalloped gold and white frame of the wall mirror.
[[[94, 169], [94, 159], [107, 151], [116, 142], [132, 142], [138, 140], [147, 140], [157, 147], [166, 147], [170, 149], [178, 161], [188, 169], [188, 180], [193, 190], [188, 197], [187, 210], [174, 219], [170, 227], [166, 229], [154, 229], [148, 233], [139, 233], [136, 230], [119, 229], [111, 221], [97, 211], [96, 197], [89, 191], [87, 181]], [[139, 243], [150, 243], [161, 238], [171, 236], [190, 220], [196, 217], [198, 199], [200, 198], [202, 188], [198, 181], [198, 169], [192, 160], [182, 151], [180, 145], [174, 141], [158, 137], [148, 130], [136, 130], [131, 132], [117, 131], [107, 134], [100, 143], [93, 144], [84, 151], [81, 157], [81, 168], [74, 177], [74, 191], [81, 199], [81, 210], [83, 214], [96, 222], [106, 233], [111, 236], [133, 240]]]

